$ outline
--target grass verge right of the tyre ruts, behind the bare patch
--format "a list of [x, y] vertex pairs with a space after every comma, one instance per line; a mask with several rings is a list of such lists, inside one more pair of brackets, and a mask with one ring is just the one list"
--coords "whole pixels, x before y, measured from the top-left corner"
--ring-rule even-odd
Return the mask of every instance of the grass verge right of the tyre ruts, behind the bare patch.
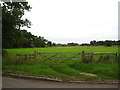
[[97, 74], [103, 79], [118, 79], [118, 64], [79, 64], [73, 63], [69, 65], [71, 68], [81, 72]]

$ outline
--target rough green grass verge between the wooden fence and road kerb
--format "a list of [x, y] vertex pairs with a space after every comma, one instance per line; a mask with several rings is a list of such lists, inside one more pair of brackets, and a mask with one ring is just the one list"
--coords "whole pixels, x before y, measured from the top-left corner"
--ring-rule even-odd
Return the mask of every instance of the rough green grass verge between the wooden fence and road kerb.
[[[3, 70], [23, 75], [69, 79], [118, 79], [117, 64], [18, 64], [4, 65]], [[93, 73], [98, 77], [80, 75], [80, 72]]]

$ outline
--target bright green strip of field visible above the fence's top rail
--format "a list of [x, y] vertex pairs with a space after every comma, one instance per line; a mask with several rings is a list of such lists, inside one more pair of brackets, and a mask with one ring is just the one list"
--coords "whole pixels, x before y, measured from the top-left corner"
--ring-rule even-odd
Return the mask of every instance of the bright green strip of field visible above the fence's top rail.
[[47, 48], [19, 48], [6, 49], [9, 53], [34, 53], [39, 52], [118, 52], [118, 47], [105, 46], [80, 46], [80, 47], [47, 47]]

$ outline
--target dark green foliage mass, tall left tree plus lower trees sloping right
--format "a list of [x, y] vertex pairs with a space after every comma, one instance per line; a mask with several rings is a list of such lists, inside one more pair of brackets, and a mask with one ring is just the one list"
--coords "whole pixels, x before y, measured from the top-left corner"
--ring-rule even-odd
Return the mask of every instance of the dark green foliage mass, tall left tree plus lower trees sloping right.
[[30, 11], [28, 2], [4, 2], [2, 5], [3, 48], [45, 47], [46, 39], [32, 35], [21, 27], [30, 28], [31, 22], [22, 19], [25, 10]]

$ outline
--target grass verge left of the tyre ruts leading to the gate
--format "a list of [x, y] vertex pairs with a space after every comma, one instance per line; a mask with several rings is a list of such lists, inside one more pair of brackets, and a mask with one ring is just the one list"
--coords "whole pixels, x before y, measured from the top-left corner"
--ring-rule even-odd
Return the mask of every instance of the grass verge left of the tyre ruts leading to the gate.
[[56, 72], [44, 64], [7, 65], [3, 67], [3, 70], [23, 75], [33, 75], [61, 79], [69, 78], [68, 75]]

